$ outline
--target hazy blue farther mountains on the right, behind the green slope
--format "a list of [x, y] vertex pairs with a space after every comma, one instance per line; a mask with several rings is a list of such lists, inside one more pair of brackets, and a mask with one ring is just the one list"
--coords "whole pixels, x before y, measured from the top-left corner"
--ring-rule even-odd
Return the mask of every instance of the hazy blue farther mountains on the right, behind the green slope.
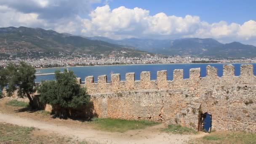
[[109, 43], [136, 47], [142, 51], [166, 55], [181, 56], [211, 56], [211, 57], [256, 57], [256, 47], [242, 43], [219, 43], [212, 38], [184, 38], [177, 40], [153, 40], [129, 38], [112, 40], [106, 37], [90, 37], [93, 40], [103, 40]]

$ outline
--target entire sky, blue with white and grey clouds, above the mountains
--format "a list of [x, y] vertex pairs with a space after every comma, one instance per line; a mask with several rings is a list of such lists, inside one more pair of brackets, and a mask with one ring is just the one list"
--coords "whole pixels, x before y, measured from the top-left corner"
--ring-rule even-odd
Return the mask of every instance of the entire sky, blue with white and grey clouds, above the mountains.
[[256, 45], [256, 0], [0, 0], [0, 27]]

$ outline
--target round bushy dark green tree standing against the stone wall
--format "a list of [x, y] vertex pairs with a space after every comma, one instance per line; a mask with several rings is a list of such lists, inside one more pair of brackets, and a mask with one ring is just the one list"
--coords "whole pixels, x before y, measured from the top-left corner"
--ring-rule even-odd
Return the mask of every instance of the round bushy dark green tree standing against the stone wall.
[[77, 83], [74, 72], [64, 70], [55, 72], [56, 80], [42, 81], [38, 92], [41, 94], [40, 101], [44, 104], [50, 104], [53, 107], [60, 107], [55, 113], [55, 117], [67, 118], [69, 108], [77, 108], [88, 104], [90, 96], [85, 88], [81, 88]]

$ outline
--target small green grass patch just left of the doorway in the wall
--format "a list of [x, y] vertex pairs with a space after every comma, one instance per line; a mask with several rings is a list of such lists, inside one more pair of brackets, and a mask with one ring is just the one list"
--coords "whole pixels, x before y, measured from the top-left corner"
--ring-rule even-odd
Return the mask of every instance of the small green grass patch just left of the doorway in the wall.
[[197, 133], [194, 129], [183, 127], [181, 125], [168, 125], [168, 128], [163, 128], [162, 131], [167, 133], [179, 133], [179, 134]]

